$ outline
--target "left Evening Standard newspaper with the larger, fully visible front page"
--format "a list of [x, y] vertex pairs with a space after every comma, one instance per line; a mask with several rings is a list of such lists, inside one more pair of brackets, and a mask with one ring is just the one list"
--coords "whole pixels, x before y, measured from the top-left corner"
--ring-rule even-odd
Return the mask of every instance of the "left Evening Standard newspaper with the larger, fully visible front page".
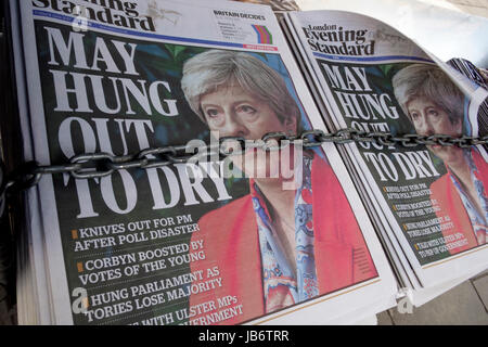
[[[268, 7], [34, 0], [20, 12], [22, 130], [41, 165], [326, 131]], [[29, 232], [46, 264], [34, 269], [42, 317], [48, 306], [55, 324], [325, 323], [391, 306], [395, 279], [333, 144], [195, 159], [41, 179]]]

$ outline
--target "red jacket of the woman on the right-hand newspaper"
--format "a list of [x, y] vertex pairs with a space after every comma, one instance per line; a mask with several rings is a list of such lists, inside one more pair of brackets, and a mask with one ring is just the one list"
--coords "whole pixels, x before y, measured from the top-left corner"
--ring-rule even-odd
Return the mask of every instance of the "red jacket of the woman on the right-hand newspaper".
[[[473, 154], [474, 164], [478, 169], [475, 175], [477, 179], [483, 182], [485, 190], [487, 190], [488, 164], [477, 151], [473, 150], [471, 153]], [[450, 254], [457, 254], [476, 247], [478, 241], [474, 233], [470, 216], [464, 208], [461, 196], [459, 195], [449, 172], [431, 184], [431, 200], [436, 201], [437, 206], [439, 207], [439, 210], [436, 213], [437, 217], [449, 215], [451, 219], [452, 228], [442, 230], [442, 235], [448, 237], [447, 244], [462, 240], [449, 241], [449, 239], [453, 239], [452, 235], [457, 233], [462, 233], [467, 241], [465, 245], [450, 249]]]

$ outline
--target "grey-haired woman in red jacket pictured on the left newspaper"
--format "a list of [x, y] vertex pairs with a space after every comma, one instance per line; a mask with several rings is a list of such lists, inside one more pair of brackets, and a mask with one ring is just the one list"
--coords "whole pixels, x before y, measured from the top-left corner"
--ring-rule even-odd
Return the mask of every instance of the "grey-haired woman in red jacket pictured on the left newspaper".
[[[301, 113], [285, 81], [246, 52], [209, 50], [183, 65], [181, 87], [190, 107], [219, 137], [258, 140], [272, 131], [301, 131]], [[293, 145], [292, 145], [293, 147]], [[295, 149], [298, 150], [298, 149]], [[260, 151], [260, 150], [259, 150]], [[233, 163], [243, 170], [267, 165], [246, 151]], [[249, 177], [249, 194], [204, 215], [193, 241], [206, 259], [192, 271], [214, 269], [222, 285], [192, 295], [191, 307], [227, 297], [239, 304], [233, 324], [274, 312], [377, 275], [347, 197], [323, 153], [304, 150], [303, 179], [283, 189], [285, 178]], [[273, 168], [262, 168], [267, 174]], [[220, 301], [220, 299], [219, 299]], [[209, 307], [195, 324], [219, 323]]]

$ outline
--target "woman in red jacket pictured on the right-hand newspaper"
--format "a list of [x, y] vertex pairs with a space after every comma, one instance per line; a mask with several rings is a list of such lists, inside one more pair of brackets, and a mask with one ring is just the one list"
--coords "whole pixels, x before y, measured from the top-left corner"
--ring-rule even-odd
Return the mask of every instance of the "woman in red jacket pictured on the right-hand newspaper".
[[[437, 66], [413, 64], [393, 78], [395, 97], [416, 133], [422, 136], [463, 134], [465, 97]], [[475, 146], [461, 149], [439, 144], [427, 149], [440, 158], [447, 174], [431, 185], [437, 216], [449, 216], [451, 228], [442, 230], [451, 254], [487, 243], [488, 164]], [[464, 245], [452, 241], [463, 234]], [[452, 244], [452, 247], [449, 244]]]

